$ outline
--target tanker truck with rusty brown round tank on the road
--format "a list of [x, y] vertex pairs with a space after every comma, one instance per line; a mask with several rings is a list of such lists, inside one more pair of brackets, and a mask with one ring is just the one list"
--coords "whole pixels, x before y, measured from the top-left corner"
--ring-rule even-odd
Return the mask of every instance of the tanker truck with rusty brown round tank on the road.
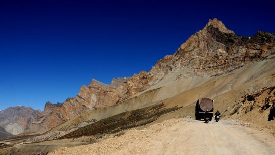
[[198, 99], [195, 107], [195, 118], [196, 120], [201, 120], [204, 118], [204, 113], [208, 109], [208, 112], [210, 113], [210, 121], [212, 121], [213, 117], [213, 111], [214, 111], [214, 100], [211, 100], [209, 98], [202, 98], [200, 101]]

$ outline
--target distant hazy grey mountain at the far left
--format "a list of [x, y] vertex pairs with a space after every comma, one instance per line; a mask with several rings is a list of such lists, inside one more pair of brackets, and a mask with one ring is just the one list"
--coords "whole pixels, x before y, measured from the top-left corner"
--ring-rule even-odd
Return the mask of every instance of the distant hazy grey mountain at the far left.
[[40, 112], [31, 107], [9, 107], [0, 111], [0, 126], [13, 135], [29, 132], [29, 123], [36, 120]]

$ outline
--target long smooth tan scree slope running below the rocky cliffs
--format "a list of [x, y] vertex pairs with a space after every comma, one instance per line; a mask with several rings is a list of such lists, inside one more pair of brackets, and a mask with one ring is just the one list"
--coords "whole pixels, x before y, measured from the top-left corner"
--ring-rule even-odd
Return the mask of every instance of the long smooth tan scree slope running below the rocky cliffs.
[[[48, 132], [71, 130], [93, 123], [91, 120], [98, 121], [158, 102], [164, 102], [166, 108], [183, 106], [182, 109], [162, 119], [193, 116], [196, 101], [203, 97], [215, 99], [215, 108], [225, 111], [228, 106], [232, 105], [232, 102], [237, 101], [243, 95], [275, 84], [275, 78], [272, 75], [275, 73], [274, 60], [259, 61], [233, 72], [213, 77], [199, 77], [191, 75], [191, 72], [177, 71], [168, 75], [162, 82], [116, 106], [87, 111]], [[272, 122], [269, 122], [269, 126], [272, 126]]]

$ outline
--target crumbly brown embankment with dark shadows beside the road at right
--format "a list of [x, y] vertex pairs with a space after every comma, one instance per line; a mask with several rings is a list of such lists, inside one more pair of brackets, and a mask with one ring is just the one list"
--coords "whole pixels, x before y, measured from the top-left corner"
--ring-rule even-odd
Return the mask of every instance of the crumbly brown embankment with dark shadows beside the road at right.
[[[240, 98], [231, 110], [224, 111], [225, 118], [242, 120], [268, 127], [275, 119], [275, 86], [270, 86]], [[275, 130], [273, 123], [272, 130]]]

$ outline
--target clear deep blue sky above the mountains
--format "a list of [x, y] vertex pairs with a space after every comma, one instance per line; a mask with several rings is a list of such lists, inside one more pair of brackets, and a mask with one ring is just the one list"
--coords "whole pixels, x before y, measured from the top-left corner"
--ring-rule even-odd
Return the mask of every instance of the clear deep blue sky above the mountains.
[[149, 71], [214, 17], [275, 33], [274, 1], [0, 1], [0, 110], [74, 97], [91, 79]]

